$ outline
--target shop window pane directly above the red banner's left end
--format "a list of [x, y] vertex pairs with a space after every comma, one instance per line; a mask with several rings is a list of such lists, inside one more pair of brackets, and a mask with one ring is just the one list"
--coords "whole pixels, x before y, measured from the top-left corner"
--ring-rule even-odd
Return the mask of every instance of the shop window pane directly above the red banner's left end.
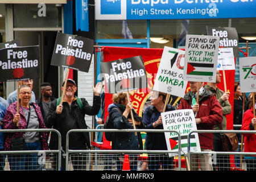
[[97, 39], [146, 39], [146, 20], [97, 21]]

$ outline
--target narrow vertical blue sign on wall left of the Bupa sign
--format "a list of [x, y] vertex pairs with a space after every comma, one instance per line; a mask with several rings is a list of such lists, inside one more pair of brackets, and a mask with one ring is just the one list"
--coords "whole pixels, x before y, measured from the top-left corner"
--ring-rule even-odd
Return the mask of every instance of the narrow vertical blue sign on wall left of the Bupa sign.
[[88, 0], [76, 0], [76, 31], [89, 31]]

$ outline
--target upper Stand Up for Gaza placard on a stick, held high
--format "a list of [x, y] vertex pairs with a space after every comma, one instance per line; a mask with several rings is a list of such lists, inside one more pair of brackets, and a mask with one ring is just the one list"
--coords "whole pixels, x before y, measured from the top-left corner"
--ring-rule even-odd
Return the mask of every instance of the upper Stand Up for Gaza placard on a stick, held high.
[[[216, 82], [218, 36], [187, 35], [185, 43], [184, 80]], [[197, 99], [199, 96], [197, 86]]]

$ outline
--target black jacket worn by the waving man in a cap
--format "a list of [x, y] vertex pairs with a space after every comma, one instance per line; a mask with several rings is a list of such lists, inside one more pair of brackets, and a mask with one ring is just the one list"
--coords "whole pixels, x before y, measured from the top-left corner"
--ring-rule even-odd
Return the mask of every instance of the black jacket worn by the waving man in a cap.
[[[87, 115], [96, 115], [98, 114], [98, 111], [100, 111], [100, 96], [94, 96], [93, 97], [93, 106], [90, 106], [88, 102], [85, 100], [85, 98], [81, 98], [82, 101], [82, 109], [80, 109], [79, 105], [77, 104], [76, 99], [73, 100], [71, 106], [69, 107], [68, 102], [63, 102], [63, 111], [60, 114], [56, 113], [56, 102], [52, 101], [51, 106], [49, 109], [49, 114], [46, 119], [46, 127], [51, 129], [56, 129], [61, 134], [61, 146], [63, 147], [63, 150], [65, 151], [66, 146], [66, 135], [67, 135], [67, 128], [65, 128], [63, 123], [68, 123], [68, 118], [73, 117], [75, 118], [75, 128], [73, 129], [87, 129], [88, 126], [85, 122], [85, 114]], [[75, 136], [76, 138], [79, 138], [79, 140], [76, 140], [76, 142], [69, 140], [69, 149], [75, 149], [75, 150], [83, 150], [86, 149], [86, 147], [90, 148], [90, 138], [88, 132], [83, 133], [73, 133], [70, 134], [69, 137]], [[58, 138], [56, 133], [51, 133], [51, 140], [49, 143], [49, 148], [51, 150], [56, 150], [58, 144]], [[73, 147], [71, 147], [73, 146]]]

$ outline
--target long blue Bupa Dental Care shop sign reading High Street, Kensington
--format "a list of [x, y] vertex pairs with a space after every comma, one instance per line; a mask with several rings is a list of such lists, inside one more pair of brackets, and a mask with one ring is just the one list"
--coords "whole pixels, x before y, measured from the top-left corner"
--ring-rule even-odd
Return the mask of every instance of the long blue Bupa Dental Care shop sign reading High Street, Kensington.
[[125, 19], [256, 17], [256, 0], [101, 0], [97, 4], [101, 6], [101, 12], [96, 11], [96, 17], [104, 19], [104, 14], [121, 14], [121, 3], [126, 5]]

